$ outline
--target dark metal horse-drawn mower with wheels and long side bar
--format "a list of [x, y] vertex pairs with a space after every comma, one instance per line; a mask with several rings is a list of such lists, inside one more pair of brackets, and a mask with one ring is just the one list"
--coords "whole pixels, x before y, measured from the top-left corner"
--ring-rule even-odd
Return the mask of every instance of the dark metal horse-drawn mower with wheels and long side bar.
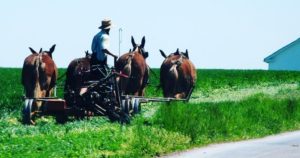
[[[115, 59], [116, 60], [116, 59]], [[35, 117], [52, 115], [58, 123], [64, 123], [70, 116], [82, 119], [90, 116], [107, 116], [112, 121], [128, 123], [130, 117], [139, 113], [142, 103], [188, 101], [191, 88], [186, 99], [147, 98], [143, 96], [122, 95], [117, 78], [128, 77], [115, 70], [114, 67], [95, 67], [105, 72], [99, 80], [87, 80], [77, 90], [65, 89], [64, 99], [57, 97], [25, 98], [23, 121], [34, 124]], [[105, 69], [105, 71], [102, 71]], [[41, 104], [37, 109], [35, 104]]]

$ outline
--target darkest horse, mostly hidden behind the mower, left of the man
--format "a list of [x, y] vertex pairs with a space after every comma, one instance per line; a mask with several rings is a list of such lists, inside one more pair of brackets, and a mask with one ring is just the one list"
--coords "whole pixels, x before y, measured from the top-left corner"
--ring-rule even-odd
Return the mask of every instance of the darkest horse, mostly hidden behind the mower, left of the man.
[[90, 61], [91, 54], [86, 51], [85, 57], [74, 59], [69, 64], [64, 87], [66, 100], [70, 93], [79, 92], [84, 82], [90, 78]]

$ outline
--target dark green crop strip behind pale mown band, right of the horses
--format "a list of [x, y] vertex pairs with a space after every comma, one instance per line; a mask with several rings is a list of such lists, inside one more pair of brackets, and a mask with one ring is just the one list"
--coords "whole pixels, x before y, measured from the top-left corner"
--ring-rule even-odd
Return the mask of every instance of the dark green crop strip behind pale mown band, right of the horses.
[[298, 83], [297, 71], [266, 70], [198, 70], [197, 89], [208, 92], [219, 88], [247, 88], [255, 85]]

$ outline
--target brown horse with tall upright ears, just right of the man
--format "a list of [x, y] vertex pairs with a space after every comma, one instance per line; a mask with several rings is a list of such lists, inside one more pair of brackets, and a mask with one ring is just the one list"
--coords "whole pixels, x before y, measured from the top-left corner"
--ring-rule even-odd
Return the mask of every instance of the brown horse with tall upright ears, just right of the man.
[[149, 78], [149, 69], [146, 64], [148, 52], [144, 50], [145, 37], [140, 45], [131, 37], [133, 51], [123, 54], [116, 62], [116, 70], [128, 77], [119, 78], [119, 87], [122, 94], [143, 96]]

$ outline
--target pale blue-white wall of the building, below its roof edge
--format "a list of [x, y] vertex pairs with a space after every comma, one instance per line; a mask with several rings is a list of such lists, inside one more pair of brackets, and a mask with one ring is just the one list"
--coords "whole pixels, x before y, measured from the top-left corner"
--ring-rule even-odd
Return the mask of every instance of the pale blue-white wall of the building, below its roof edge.
[[300, 43], [275, 56], [269, 63], [269, 70], [300, 71]]

